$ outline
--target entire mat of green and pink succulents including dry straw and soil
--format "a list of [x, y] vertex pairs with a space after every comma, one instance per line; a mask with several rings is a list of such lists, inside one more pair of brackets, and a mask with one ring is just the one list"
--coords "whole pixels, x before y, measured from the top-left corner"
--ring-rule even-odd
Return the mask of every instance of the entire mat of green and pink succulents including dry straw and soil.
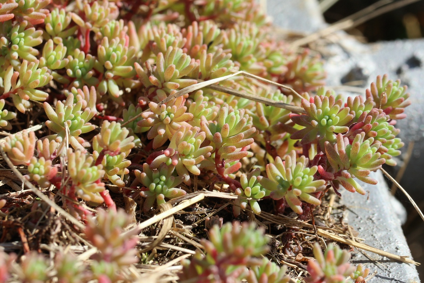
[[396, 164], [396, 78], [325, 88], [254, 0], [7, 0], [0, 25], [0, 283], [366, 282], [353, 247], [418, 264], [337, 202]]

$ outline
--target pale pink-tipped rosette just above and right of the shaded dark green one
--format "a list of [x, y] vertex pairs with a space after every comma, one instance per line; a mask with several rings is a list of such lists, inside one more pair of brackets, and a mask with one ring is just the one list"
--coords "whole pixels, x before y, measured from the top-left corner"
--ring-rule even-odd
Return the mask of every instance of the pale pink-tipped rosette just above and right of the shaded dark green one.
[[211, 156], [213, 150], [212, 146], [201, 146], [205, 138], [205, 132], [198, 127], [180, 127], [168, 148], [152, 161], [151, 168], [159, 168], [162, 163], [175, 166], [178, 175], [184, 177], [186, 184], [190, 184], [189, 172], [200, 175], [201, 162]]

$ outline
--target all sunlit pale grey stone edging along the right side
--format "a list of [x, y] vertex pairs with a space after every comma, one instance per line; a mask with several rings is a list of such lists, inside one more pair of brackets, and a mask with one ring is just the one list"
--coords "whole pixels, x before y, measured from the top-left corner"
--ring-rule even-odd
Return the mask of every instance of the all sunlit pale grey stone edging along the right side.
[[[325, 25], [315, 0], [268, 0], [267, 10], [276, 25], [294, 31], [313, 32]], [[424, 52], [416, 50], [424, 50], [424, 40], [363, 45], [343, 33], [338, 35], [339, 40], [328, 46], [328, 53], [324, 57], [327, 85], [339, 86], [343, 82], [362, 80], [359, 87], [368, 87], [377, 75], [389, 73], [391, 78], [400, 77], [409, 84], [411, 92], [419, 92], [422, 85], [420, 78], [424, 77], [424, 71], [420, 68], [424, 65]], [[357, 90], [364, 93], [365, 88]], [[342, 88], [339, 92], [347, 91]], [[402, 139], [410, 137], [419, 141], [424, 138], [424, 97], [416, 95], [412, 98], [413, 106], [407, 108], [409, 118], [400, 120], [398, 126], [403, 131]], [[424, 145], [421, 147], [424, 149]], [[424, 151], [421, 152], [424, 154]], [[424, 163], [424, 159], [421, 159], [421, 163]], [[424, 164], [420, 164], [415, 169], [422, 175], [423, 167]], [[405, 218], [404, 208], [389, 193], [382, 174], [377, 172], [374, 176], [379, 185], [363, 184], [370, 191], [369, 199], [358, 193], [343, 193], [342, 202], [349, 208], [349, 224], [359, 232], [360, 238], [365, 239], [366, 244], [397, 255], [410, 256], [399, 219], [399, 216]], [[355, 253], [352, 260], [354, 263], [367, 263], [371, 270], [377, 270], [377, 276], [368, 282], [420, 282], [415, 266], [393, 262], [370, 252], [367, 254], [379, 263], [375, 264], [360, 252]]]

